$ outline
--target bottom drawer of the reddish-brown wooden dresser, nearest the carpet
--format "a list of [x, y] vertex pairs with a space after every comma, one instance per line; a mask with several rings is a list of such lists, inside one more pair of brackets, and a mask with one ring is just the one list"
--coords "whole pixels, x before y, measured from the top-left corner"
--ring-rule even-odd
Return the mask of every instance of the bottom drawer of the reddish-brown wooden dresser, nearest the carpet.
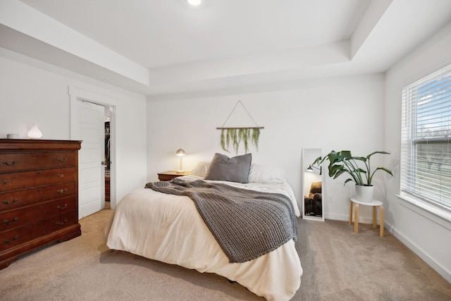
[[75, 211], [0, 232], [0, 252], [78, 223]]

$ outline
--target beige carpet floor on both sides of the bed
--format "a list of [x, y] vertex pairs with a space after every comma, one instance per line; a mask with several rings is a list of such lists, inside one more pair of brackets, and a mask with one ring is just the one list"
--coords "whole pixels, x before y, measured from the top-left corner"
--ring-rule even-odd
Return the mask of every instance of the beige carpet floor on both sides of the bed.
[[[112, 210], [80, 220], [82, 235], [0, 271], [0, 300], [264, 300], [237, 283], [109, 250]], [[292, 300], [451, 300], [451, 284], [388, 231], [298, 219], [304, 274]]]

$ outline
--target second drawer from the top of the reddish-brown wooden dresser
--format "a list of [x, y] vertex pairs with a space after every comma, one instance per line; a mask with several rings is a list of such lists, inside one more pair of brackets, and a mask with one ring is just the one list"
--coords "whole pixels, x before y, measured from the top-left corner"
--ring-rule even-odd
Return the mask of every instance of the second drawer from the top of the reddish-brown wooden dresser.
[[75, 181], [75, 167], [0, 174], [0, 192]]

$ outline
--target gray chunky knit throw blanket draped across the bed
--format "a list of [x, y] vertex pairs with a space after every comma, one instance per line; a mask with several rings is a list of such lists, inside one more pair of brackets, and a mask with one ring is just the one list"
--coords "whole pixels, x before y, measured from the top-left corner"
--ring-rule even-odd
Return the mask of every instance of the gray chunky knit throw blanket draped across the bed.
[[295, 209], [285, 195], [178, 178], [145, 188], [190, 197], [230, 263], [247, 262], [297, 238]]

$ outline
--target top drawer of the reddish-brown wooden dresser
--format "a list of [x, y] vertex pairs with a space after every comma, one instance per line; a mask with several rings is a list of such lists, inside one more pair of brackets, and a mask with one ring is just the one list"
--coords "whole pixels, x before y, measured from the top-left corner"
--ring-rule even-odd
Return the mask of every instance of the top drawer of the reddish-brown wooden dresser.
[[0, 173], [75, 166], [75, 159], [77, 158], [75, 154], [75, 152], [0, 153]]

